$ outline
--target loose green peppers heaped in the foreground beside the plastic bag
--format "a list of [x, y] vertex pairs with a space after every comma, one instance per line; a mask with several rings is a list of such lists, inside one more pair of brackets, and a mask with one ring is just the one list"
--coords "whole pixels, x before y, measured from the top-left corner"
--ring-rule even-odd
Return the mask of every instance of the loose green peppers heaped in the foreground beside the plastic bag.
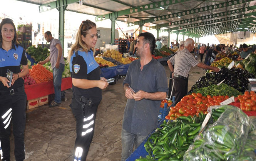
[[164, 122], [160, 125], [163, 128], [157, 128], [144, 144], [149, 155], [136, 161], [182, 160], [185, 151], [198, 135], [205, 116], [199, 113], [199, 117], [181, 116], [173, 122]]

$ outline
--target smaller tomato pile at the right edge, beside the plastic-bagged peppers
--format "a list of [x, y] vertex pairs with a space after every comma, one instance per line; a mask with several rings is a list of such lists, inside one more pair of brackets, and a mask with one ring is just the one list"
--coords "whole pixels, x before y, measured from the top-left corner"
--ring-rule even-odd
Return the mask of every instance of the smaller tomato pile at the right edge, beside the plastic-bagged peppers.
[[256, 111], [256, 94], [254, 91], [245, 91], [244, 95], [238, 95], [241, 110]]

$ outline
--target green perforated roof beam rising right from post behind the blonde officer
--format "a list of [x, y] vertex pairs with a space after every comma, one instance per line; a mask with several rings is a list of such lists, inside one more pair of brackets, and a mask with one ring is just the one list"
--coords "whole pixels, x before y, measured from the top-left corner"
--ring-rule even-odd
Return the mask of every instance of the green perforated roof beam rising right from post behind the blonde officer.
[[[114, 1], [116, 2], [117, 0], [114, 0]], [[122, 11], [116, 11], [115, 13], [117, 16], [124, 16], [124, 15], [129, 15], [132, 13], [139, 13], [141, 11], [152, 10], [155, 8], [164, 7], [167, 5], [172, 5], [172, 4], [186, 2], [186, 1], [189, 1], [189, 0], [162, 0], [159, 2], [150, 3], [147, 5], [132, 7], [132, 8], [126, 9], [126, 10], [122, 10]], [[124, 2], [120, 2], [120, 1], [118, 3], [124, 4]], [[127, 4], [127, 3], [125, 3], [124, 5], [129, 6], [129, 4]], [[109, 18], [110, 18], [110, 15], [105, 14], [105, 15], [97, 16], [96, 21], [102, 21], [102, 20], [109, 19]], [[139, 24], [137, 24], [137, 25], [139, 25]]]

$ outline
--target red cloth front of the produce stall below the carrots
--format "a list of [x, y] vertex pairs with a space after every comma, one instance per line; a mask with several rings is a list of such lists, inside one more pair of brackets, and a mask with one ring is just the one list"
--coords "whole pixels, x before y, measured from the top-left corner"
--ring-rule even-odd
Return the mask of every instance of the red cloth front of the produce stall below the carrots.
[[[72, 87], [71, 77], [62, 78], [61, 90], [70, 89]], [[25, 85], [25, 92], [27, 94], [27, 100], [36, 99], [45, 95], [54, 94], [54, 83], [53, 81]]]

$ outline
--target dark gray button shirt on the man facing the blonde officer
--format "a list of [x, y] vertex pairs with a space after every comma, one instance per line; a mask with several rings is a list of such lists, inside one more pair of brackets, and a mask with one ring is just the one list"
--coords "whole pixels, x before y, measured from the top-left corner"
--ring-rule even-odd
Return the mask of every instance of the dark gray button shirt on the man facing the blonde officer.
[[[133, 61], [127, 71], [123, 84], [128, 83], [138, 92], [168, 92], [164, 67], [155, 59], [140, 69], [141, 59]], [[146, 136], [157, 127], [161, 100], [127, 99], [122, 128], [136, 135]]]

